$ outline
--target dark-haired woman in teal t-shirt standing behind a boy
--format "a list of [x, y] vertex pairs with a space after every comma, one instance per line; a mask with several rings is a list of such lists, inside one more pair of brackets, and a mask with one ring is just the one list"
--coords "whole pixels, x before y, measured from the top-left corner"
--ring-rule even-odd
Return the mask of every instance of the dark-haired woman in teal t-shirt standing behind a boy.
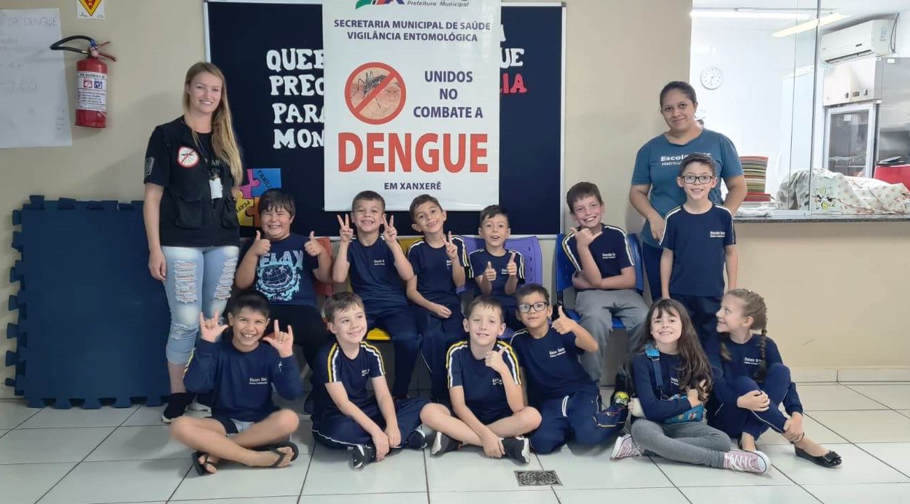
[[715, 186], [710, 193], [715, 203], [736, 214], [743, 203], [746, 186], [743, 165], [733, 142], [726, 136], [705, 129], [695, 120], [698, 100], [688, 83], [673, 81], [661, 90], [661, 114], [670, 129], [653, 137], [638, 150], [632, 171], [629, 201], [646, 219], [642, 228], [642, 258], [652, 297], [661, 292], [661, 254], [663, 217], [685, 202], [685, 193], [676, 183], [680, 161], [693, 153], [711, 156], [717, 163], [717, 176], [723, 179], [729, 193], [721, 199]]

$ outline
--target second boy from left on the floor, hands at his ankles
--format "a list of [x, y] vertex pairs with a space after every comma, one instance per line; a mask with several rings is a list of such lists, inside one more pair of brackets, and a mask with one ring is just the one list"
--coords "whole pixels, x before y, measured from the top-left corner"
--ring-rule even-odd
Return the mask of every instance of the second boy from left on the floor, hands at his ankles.
[[363, 340], [363, 301], [339, 292], [323, 307], [336, 341], [319, 351], [313, 372], [313, 438], [329, 448], [350, 449], [354, 469], [384, 459], [390, 449], [423, 449], [420, 416], [427, 399], [391, 397], [382, 354]]

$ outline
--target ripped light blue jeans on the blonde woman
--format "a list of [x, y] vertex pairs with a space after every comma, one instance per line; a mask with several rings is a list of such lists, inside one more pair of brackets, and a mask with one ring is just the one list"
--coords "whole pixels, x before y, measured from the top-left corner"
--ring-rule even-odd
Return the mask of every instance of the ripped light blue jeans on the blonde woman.
[[187, 364], [199, 333], [199, 312], [224, 315], [239, 247], [161, 247], [167, 259], [165, 292], [171, 311], [167, 362]]

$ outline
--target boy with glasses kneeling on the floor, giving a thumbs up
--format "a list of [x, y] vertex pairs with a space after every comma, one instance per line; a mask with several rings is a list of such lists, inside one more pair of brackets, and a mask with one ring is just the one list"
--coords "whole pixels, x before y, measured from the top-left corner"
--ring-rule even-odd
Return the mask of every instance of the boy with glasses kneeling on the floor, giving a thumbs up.
[[600, 389], [581, 368], [579, 355], [597, 353], [597, 341], [558, 307], [552, 324], [550, 293], [537, 284], [515, 294], [524, 329], [511, 338], [525, 378], [531, 406], [541, 426], [531, 433], [531, 448], [550, 453], [569, 438], [599, 445], [622, 429], [626, 411], [604, 411]]

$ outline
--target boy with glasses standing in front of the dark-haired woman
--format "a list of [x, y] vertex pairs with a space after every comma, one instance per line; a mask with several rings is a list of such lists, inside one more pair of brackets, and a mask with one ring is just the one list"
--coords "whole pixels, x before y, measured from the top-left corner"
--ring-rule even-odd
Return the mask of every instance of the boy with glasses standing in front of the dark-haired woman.
[[739, 259], [733, 214], [709, 198], [717, 185], [717, 166], [711, 156], [686, 156], [676, 183], [685, 191], [686, 201], [667, 212], [661, 239], [661, 297], [675, 299], [686, 308], [704, 347], [717, 336], [715, 314], [725, 292], [724, 268], [727, 287], [736, 288]]

